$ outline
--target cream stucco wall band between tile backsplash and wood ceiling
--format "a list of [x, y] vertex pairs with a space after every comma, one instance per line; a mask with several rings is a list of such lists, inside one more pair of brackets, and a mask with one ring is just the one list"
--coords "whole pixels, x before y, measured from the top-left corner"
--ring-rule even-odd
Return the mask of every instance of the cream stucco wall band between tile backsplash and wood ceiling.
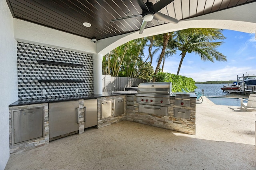
[[91, 39], [14, 19], [14, 37], [17, 41], [54, 47], [79, 53], [95, 54], [97, 43]]

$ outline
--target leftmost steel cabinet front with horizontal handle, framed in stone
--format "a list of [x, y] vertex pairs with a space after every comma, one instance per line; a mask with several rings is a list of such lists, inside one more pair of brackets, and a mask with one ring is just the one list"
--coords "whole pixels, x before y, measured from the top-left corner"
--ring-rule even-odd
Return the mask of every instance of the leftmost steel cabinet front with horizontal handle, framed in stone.
[[44, 109], [12, 111], [12, 145], [44, 137]]

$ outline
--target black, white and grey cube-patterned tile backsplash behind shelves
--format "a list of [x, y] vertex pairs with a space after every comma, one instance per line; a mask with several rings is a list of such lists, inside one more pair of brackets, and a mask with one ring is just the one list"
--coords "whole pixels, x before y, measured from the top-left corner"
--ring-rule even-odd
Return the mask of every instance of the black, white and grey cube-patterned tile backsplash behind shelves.
[[[17, 55], [19, 100], [93, 94], [92, 55], [22, 42], [17, 43]], [[38, 63], [38, 59], [83, 64], [84, 67], [43, 64]], [[40, 79], [84, 82], [38, 82]]]

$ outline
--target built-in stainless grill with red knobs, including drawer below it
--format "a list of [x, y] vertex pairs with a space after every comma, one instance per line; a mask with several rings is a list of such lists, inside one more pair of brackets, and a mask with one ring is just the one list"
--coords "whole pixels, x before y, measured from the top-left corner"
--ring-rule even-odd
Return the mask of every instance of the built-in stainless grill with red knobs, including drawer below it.
[[168, 115], [172, 94], [171, 82], [140, 83], [136, 94], [139, 111], [155, 115]]

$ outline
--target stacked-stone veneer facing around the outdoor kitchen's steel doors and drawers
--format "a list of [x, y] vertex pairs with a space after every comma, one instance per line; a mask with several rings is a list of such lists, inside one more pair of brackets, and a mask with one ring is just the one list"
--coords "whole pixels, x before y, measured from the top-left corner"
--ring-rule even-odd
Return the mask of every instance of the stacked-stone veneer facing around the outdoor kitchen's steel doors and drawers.
[[[114, 100], [118, 98], [124, 99], [124, 114], [114, 116]], [[112, 117], [101, 119], [101, 100], [112, 100]], [[191, 135], [196, 134], [196, 99], [190, 98], [190, 107], [175, 106], [175, 98], [170, 97], [170, 106], [168, 106], [168, 116], [152, 115], [148, 113], [141, 113], [138, 111], [138, 103], [136, 97], [134, 98], [134, 110], [126, 109], [126, 95], [119, 96], [106, 96], [97, 99], [97, 114], [98, 114], [98, 128], [112, 125], [114, 123], [128, 120], [134, 121], [146, 125], [160, 127], [164, 129], [170, 129]], [[44, 137], [29, 142], [20, 143], [12, 146], [12, 110], [13, 109], [27, 109], [35, 107], [44, 107]], [[190, 110], [190, 119], [182, 119], [174, 117], [174, 108], [188, 109]], [[79, 100], [79, 131], [65, 134], [60, 137], [71, 135], [74, 133], [84, 133], [84, 100]], [[45, 104], [33, 104], [25, 106], [9, 107], [9, 125], [10, 125], [10, 154], [24, 152], [26, 150], [34, 149], [49, 143], [49, 107], [48, 103]], [[60, 138], [56, 137], [56, 139]]]

